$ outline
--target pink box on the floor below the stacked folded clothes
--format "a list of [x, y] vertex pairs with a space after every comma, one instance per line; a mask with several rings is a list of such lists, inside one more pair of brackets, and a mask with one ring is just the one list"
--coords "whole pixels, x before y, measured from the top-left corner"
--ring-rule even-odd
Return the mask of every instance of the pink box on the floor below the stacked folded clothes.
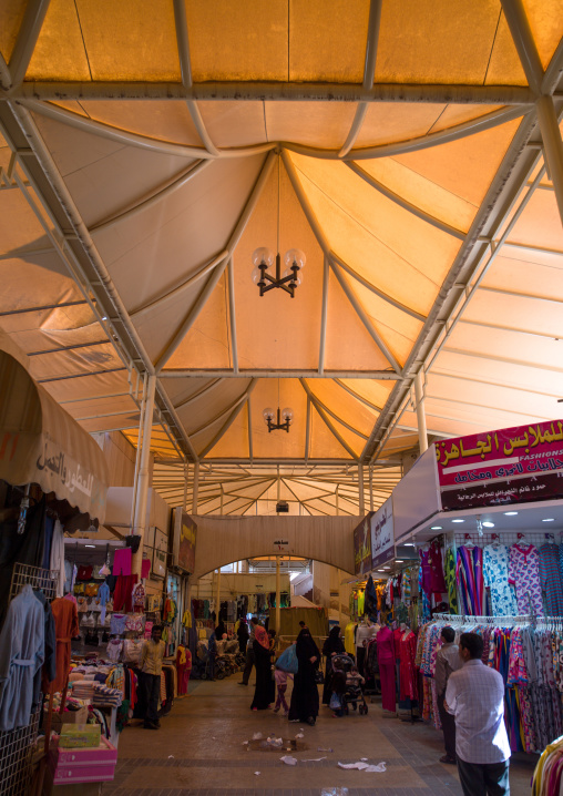
[[95, 749], [63, 749], [54, 742], [50, 761], [53, 785], [111, 782], [116, 762], [117, 749], [104, 737]]

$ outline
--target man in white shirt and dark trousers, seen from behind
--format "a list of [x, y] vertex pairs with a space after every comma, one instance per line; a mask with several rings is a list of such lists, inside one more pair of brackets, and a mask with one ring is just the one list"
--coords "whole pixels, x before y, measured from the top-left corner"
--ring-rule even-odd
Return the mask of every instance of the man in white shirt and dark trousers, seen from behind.
[[446, 687], [444, 708], [455, 717], [455, 754], [464, 796], [509, 796], [510, 744], [504, 726], [504, 681], [481, 660], [483, 640], [462, 633], [463, 662]]

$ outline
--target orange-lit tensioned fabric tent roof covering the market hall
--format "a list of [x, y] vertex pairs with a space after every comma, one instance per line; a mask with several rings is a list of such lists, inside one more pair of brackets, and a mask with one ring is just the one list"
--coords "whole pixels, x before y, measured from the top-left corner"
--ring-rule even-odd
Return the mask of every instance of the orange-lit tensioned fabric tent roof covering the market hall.
[[[327, 513], [350, 466], [387, 489], [417, 374], [434, 438], [553, 418], [562, 31], [561, 0], [3, 0], [0, 327], [91, 432], [136, 445], [156, 375], [171, 502], [196, 460], [245, 468], [237, 512], [277, 463]], [[294, 298], [259, 246], [306, 254]]]

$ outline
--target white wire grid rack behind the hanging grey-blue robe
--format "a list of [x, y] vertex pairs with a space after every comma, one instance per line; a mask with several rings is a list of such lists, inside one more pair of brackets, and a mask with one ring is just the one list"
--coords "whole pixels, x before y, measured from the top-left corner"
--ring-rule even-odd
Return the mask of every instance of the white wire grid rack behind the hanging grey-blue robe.
[[[47, 600], [57, 596], [58, 570], [44, 570], [29, 564], [16, 564], [10, 585], [10, 600], [21, 588], [30, 584], [41, 589]], [[1, 796], [27, 796], [30, 792], [32, 758], [35, 749], [42, 704], [31, 713], [25, 727], [0, 732], [0, 794]]]

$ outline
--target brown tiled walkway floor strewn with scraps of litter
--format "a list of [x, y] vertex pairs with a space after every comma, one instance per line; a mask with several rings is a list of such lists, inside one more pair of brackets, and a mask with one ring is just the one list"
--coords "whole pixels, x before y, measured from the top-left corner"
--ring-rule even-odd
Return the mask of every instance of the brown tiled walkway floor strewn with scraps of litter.
[[[461, 794], [455, 767], [438, 762], [441, 734], [427, 724], [383, 717], [379, 702], [369, 705], [367, 716], [350, 713], [340, 720], [321, 708], [317, 725], [303, 727], [308, 748], [291, 753], [299, 761], [295, 767], [279, 761], [284, 753], [246, 751], [243, 742], [255, 732], [293, 738], [301, 725], [270, 711], [252, 712], [253, 686], [237, 682], [236, 675], [193, 682], [190, 696], [176, 701], [161, 729], [136, 723], [126, 727], [115, 779], [104, 784], [103, 796], [320, 796], [328, 788], [348, 788], [348, 796]], [[334, 752], [318, 752], [319, 746]], [[387, 771], [366, 774], [337, 766], [361, 757], [370, 764], [385, 761]], [[534, 765], [528, 755], [512, 761], [512, 796], [530, 794]]]

